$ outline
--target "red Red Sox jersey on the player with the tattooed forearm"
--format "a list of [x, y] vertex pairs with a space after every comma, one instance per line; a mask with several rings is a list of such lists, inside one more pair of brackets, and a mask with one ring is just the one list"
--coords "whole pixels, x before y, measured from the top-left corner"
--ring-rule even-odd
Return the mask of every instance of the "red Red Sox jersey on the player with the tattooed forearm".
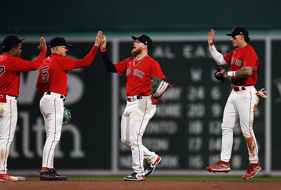
[[231, 77], [231, 82], [235, 86], [252, 86], [257, 82], [257, 66], [259, 60], [255, 50], [250, 45], [243, 48], [236, 48], [229, 54], [223, 56], [228, 64], [231, 64], [230, 70], [237, 71], [244, 66], [251, 66], [254, 68], [253, 74], [249, 77], [237, 78]]

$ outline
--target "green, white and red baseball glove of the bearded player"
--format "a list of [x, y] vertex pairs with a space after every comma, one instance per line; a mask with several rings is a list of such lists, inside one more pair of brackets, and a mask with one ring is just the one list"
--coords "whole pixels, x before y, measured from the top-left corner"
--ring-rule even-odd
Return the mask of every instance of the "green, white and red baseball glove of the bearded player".
[[150, 87], [150, 95], [151, 95], [151, 98], [152, 98], [151, 99], [152, 104], [155, 105], [158, 101], [158, 98], [160, 98], [163, 102], [165, 102], [161, 96], [171, 86], [172, 85], [170, 85], [169, 83], [164, 82], [163, 80], [161, 80], [161, 79], [155, 77], [154, 75], [152, 75], [151, 87]]

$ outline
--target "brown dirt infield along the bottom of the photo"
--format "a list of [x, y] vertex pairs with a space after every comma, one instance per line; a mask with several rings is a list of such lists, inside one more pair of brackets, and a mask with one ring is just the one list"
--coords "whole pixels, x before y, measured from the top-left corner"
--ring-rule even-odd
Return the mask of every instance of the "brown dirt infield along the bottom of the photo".
[[147, 180], [147, 181], [124, 181], [124, 180], [68, 180], [68, 181], [0, 181], [1, 189], [281, 189], [281, 182], [276, 181], [170, 181], [170, 180]]

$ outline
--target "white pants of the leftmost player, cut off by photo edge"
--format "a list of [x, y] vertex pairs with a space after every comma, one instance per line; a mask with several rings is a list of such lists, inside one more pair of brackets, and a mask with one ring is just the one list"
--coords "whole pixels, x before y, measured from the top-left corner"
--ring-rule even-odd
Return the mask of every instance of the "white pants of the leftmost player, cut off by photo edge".
[[16, 97], [6, 95], [6, 99], [5, 112], [0, 116], [0, 174], [7, 173], [7, 158], [17, 125]]

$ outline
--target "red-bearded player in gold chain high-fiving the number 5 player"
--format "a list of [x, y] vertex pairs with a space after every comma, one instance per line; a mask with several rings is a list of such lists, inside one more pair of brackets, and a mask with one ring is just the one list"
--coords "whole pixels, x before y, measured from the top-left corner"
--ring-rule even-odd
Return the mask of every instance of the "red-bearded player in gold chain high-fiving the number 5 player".
[[[162, 158], [151, 152], [142, 144], [142, 136], [147, 123], [156, 111], [156, 102], [152, 103], [150, 96], [151, 76], [167, 82], [159, 63], [147, 55], [151, 50], [152, 40], [147, 35], [132, 36], [135, 40], [132, 55], [121, 62], [113, 64], [106, 51], [106, 36], [101, 44], [102, 61], [106, 70], [119, 75], [126, 74], [127, 105], [121, 118], [121, 141], [132, 150], [132, 168], [134, 173], [124, 177], [124, 180], [145, 180]], [[143, 160], [148, 162], [145, 171]]]

